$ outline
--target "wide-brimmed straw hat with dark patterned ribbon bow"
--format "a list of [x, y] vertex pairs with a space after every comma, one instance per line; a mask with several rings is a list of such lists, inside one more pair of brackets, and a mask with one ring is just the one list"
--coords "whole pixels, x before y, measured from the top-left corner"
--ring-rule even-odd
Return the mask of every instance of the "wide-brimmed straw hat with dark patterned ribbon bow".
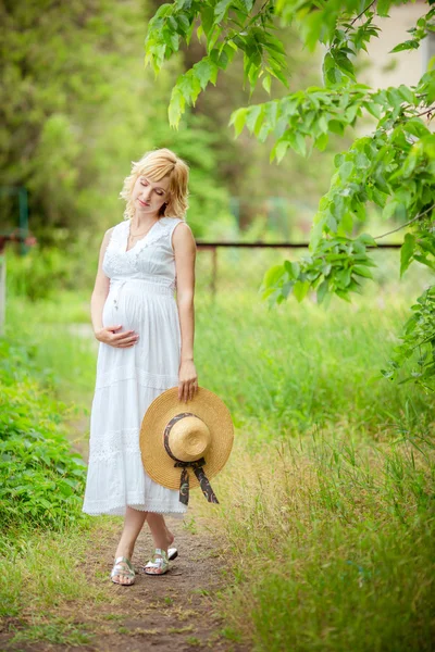
[[189, 486], [200, 486], [209, 502], [219, 502], [209, 480], [225, 465], [233, 441], [229, 410], [204, 387], [187, 403], [178, 400], [178, 387], [163, 391], [145, 413], [139, 435], [145, 471], [159, 485], [179, 488], [186, 505]]

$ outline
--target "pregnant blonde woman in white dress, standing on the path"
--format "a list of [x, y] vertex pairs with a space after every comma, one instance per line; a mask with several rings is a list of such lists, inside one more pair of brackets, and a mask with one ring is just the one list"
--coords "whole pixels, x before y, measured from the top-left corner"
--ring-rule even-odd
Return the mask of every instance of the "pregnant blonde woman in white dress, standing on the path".
[[170, 548], [174, 536], [163, 514], [183, 518], [187, 510], [178, 490], [145, 472], [139, 432], [164, 390], [177, 386], [181, 405], [198, 391], [188, 175], [187, 164], [166, 148], [133, 162], [121, 192], [124, 220], [104, 235], [90, 302], [100, 344], [83, 512], [125, 517], [111, 572], [121, 585], [135, 581], [132, 555], [145, 521], [156, 548], [145, 573], [166, 573], [177, 551]]

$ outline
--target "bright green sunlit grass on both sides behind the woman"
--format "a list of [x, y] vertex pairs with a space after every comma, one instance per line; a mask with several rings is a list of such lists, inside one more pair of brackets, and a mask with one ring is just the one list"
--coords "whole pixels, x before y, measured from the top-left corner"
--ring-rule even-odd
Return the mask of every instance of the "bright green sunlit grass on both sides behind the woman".
[[[63, 398], [89, 403], [98, 342], [86, 293], [63, 292], [36, 303], [12, 299], [10, 333], [33, 342], [35, 361], [50, 369]], [[333, 300], [325, 310], [290, 300], [274, 309], [258, 293], [207, 291], [196, 298], [195, 359], [199, 384], [219, 393], [236, 423], [258, 425], [256, 438], [294, 436], [314, 425], [382, 437], [432, 419], [432, 399], [381, 375], [409, 300]], [[77, 324], [89, 338], [76, 337]]]

